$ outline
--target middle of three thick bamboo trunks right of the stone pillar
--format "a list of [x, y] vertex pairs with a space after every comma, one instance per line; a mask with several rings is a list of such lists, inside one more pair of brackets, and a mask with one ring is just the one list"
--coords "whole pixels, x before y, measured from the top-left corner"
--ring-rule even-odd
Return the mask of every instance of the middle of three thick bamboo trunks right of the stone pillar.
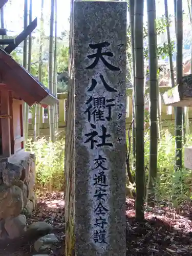
[[155, 206], [155, 185], [157, 179], [158, 111], [159, 90], [157, 83], [157, 33], [155, 0], [147, 0], [147, 27], [150, 73], [150, 169], [147, 184], [147, 203]]

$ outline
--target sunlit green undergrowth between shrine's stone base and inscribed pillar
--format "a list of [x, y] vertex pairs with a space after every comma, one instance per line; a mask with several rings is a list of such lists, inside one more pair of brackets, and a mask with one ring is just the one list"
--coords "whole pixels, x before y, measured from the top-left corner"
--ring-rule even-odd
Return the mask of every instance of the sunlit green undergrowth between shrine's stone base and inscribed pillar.
[[65, 182], [64, 157], [65, 139], [54, 143], [41, 138], [37, 141], [28, 140], [26, 151], [35, 153], [37, 190], [63, 190]]

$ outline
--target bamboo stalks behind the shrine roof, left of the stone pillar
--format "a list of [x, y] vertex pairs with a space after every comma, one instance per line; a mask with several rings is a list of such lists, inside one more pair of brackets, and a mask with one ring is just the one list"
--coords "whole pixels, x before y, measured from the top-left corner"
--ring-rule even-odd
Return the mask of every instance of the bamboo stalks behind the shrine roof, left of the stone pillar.
[[[45, 1], [41, 0], [40, 11], [40, 36], [39, 36], [39, 59], [38, 59], [38, 80], [42, 80], [42, 45], [45, 38], [44, 31], [44, 8]], [[1, 15], [2, 17], [2, 15]], [[32, 20], [32, 0], [24, 1], [24, 28]], [[55, 25], [54, 25], [55, 24]], [[24, 40], [23, 46], [23, 66], [28, 71], [31, 71], [31, 56], [32, 56], [32, 35]], [[48, 88], [54, 95], [57, 94], [57, 0], [51, 0], [50, 8], [50, 36], [49, 36], [49, 74]], [[29, 106], [24, 105], [24, 132], [25, 138], [28, 138], [28, 116]], [[35, 123], [34, 123], [34, 140], [39, 138], [39, 122], [40, 122], [40, 106], [35, 106]], [[50, 122], [50, 140], [55, 141], [56, 133], [58, 132], [58, 106], [49, 107], [49, 122]]]

